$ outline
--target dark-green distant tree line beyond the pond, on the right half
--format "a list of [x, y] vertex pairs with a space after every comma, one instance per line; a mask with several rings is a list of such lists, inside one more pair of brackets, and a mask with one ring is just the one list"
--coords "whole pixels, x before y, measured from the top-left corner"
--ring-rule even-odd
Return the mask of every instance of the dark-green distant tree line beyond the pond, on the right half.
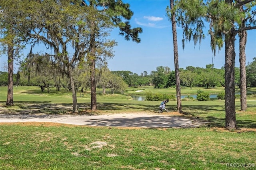
[[[247, 87], [256, 87], [256, 58], [246, 66]], [[169, 67], [159, 66], [150, 74], [144, 71], [140, 75], [131, 71], [112, 71], [120, 75], [130, 87], [150, 86], [155, 88], [175, 88], [175, 71]], [[225, 68], [214, 68], [214, 64], [206, 65], [206, 68], [188, 66], [180, 68], [180, 83], [182, 87], [224, 87]], [[235, 83], [240, 88], [240, 68], [235, 67]]]

